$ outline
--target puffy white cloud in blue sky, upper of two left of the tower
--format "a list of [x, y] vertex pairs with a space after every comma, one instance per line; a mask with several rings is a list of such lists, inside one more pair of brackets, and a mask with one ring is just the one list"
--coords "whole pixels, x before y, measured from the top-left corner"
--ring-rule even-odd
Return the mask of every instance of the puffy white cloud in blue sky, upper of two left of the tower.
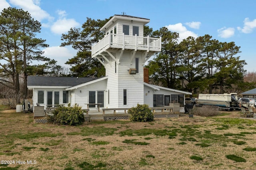
[[80, 23], [76, 22], [74, 19], [59, 19], [53, 23], [51, 31], [56, 34], [66, 33], [72, 27], [78, 27]]

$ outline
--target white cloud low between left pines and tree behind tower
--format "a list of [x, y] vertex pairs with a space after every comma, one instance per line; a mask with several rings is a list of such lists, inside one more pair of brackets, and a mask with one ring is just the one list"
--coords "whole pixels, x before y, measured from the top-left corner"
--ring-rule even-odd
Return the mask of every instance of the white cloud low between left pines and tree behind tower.
[[58, 65], [66, 66], [65, 64], [68, 59], [76, 56], [77, 51], [72, 48], [53, 46], [47, 47], [44, 50], [44, 56], [57, 61]]

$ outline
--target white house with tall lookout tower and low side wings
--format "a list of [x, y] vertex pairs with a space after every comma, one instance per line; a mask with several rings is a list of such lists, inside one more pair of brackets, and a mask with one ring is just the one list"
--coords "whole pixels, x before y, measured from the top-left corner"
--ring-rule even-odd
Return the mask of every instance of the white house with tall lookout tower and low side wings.
[[[29, 76], [28, 88], [33, 89], [34, 106], [36, 103], [41, 106], [77, 103], [84, 108], [87, 104], [97, 103], [102, 108], [130, 108], [137, 104], [168, 106], [169, 103], [184, 106], [184, 95], [191, 93], [145, 81], [148, 70], [144, 64], [161, 51], [161, 37], [143, 35], [144, 25], [149, 21], [146, 18], [114, 15], [100, 29], [105, 36], [92, 46], [92, 58], [104, 65], [106, 76], [102, 78]], [[95, 107], [91, 105], [90, 109]]]

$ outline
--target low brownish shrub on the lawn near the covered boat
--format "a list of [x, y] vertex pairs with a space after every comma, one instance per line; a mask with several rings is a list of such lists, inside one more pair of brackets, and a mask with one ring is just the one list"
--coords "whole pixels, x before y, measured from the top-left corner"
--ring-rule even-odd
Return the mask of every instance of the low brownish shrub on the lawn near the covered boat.
[[209, 117], [219, 115], [220, 112], [218, 107], [202, 106], [194, 107], [193, 109], [191, 109], [190, 114]]

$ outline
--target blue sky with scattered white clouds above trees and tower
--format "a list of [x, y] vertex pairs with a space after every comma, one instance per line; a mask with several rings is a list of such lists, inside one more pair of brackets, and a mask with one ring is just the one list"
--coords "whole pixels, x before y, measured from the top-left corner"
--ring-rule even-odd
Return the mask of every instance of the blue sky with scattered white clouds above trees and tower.
[[76, 55], [71, 47], [59, 47], [62, 33], [81, 27], [86, 17], [103, 20], [114, 14], [150, 19], [153, 30], [168, 27], [180, 33], [180, 40], [205, 34], [221, 42], [240, 46], [244, 68], [255, 72], [255, 0], [0, 0], [0, 11], [9, 6], [28, 11], [42, 24], [38, 37], [50, 47], [44, 55], [64, 63]]

